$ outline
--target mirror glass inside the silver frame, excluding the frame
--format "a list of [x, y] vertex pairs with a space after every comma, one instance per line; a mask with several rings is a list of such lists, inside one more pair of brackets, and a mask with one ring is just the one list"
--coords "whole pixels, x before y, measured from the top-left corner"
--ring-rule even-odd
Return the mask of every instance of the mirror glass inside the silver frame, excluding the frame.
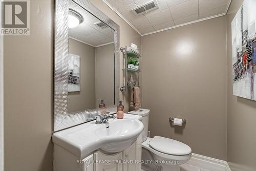
[[68, 112], [114, 105], [114, 30], [69, 1]]

